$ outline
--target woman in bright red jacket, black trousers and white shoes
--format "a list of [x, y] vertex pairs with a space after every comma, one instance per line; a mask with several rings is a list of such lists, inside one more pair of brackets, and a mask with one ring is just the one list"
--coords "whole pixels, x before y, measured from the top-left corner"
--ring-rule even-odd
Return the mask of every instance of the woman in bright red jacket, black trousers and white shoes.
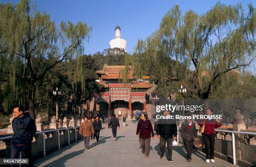
[[[206, 109], [206, 114], [208, 116], [212, 115], [211, 109]], [[214, 144], [215, 144], [215, 128], [221, 127], [221, 122], [219, 119], [203, 119], [198, 122], [200, 129], [205, 122], [205, 131], [202, 133], [202, 138], [205, 143], [206, 149], [206, 160], [205, 162], [210, 163], [214, 161]]]

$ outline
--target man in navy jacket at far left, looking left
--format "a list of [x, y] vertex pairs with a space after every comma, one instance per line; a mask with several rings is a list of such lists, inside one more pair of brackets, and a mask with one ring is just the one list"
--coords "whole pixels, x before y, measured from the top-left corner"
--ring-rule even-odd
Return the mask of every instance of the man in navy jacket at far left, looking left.
[[19, 158], [20, 152], [22, 158], [29, 158], [29, 166], [33, 167], [31, 158], [31, 142], [36, 134], [36, 124], [29, 113], [24, 113], [22, 106], [13, 109], [12, 122], [13, 138], [11, 139], [11, 158]]

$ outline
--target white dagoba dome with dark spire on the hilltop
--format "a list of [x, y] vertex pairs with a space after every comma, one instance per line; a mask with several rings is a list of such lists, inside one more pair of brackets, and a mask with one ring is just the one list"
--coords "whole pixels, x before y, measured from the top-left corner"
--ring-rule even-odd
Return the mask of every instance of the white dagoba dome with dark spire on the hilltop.
[[121, 38], [120, 34], [120, 27], [116, 26], [115, 27], [115, 39], [110, 40], [109, 45], [110, 48], [123, 48], [126, 51], [126, 40]]

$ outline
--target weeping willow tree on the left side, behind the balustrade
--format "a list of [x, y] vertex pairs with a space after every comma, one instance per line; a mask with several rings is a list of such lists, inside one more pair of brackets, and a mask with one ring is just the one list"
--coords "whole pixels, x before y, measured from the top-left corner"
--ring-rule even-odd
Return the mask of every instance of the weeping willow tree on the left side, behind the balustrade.
[[56, 27], [50, 15], [31, 10], [29, 0], [0, 4], [0, 81], [10, 86], [10, 95], [28, 102], [32, 118], [36, 83], [58, 63], [81, 55], [90, 31], [81, 22]]

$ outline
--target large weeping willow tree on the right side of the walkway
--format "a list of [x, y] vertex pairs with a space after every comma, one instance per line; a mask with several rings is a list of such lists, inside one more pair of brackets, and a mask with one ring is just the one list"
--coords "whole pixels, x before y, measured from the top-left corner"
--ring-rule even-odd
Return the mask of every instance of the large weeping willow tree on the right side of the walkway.
[[140, 64], [136, 71], [153, 67], [161, 80], [180, 81], [188, 91], [207, 99], [225, 73], [255, 62], [255, 28], [252, 4], [248, 14], [241, 4], [217, 3], [202, 15], [192, 10], [181, 15], [175, 6], [156, 32], [138, 40], [131, 63]]

